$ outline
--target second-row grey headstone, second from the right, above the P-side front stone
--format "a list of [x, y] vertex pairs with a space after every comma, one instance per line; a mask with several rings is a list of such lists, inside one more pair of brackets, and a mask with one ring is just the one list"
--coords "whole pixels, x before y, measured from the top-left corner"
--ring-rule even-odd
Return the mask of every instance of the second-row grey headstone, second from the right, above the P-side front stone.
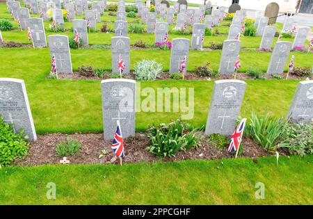
[[225, 40], [223, 42], [223, 50], [218, 67], [220, 74], [234, 74], [234, 66], [238, 60], [240, 47], [241, 42], [239, 40]]

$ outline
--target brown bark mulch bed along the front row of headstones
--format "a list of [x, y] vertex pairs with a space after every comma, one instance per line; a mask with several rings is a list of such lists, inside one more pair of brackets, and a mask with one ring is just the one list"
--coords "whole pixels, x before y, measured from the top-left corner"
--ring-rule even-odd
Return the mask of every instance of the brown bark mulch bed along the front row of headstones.
[[[56, 156], [56, 145], [67, 138], [78, 140], [82, 147], [74, 156], [67, 156], [70, 163], [119, 163], [111, 149], [111, 141], [104, 141], [102, 133], [74, 133], [61, 134], [49, 133], [39, 135], [35, 143], [31, 143], [29, 154], [24, 159], [15, 161], [15, 165], [42, 165], [57, 164], [61, 158]], [[159, 157], [145, 150], [150, 144], [150, 140], [143, 133], [136, 133], [136, 136], [124, 140], [125, 159], [124, 163], [148, 162], [154, 163], [160, 161]], [[188, 149], [186, 152], [178, 152], [173, 158], [165, 158], [163, 161], [183, 161], [183, 160], [211, 160], [221, 158], [232, 158], [234, 154], [228, 154], [227, 147], [217, 149], [210, 145], [207, 138], [202, 138], [200, 149]], [[241, 157], [259, 157], [268, 156], [271, 153], [266, 152], [262, 147], [256, 145], [250, 138], [244, 138], [242, 141], [243, 154]], [[99, 159], [102, 149], [107, 150], [107, 154]]]

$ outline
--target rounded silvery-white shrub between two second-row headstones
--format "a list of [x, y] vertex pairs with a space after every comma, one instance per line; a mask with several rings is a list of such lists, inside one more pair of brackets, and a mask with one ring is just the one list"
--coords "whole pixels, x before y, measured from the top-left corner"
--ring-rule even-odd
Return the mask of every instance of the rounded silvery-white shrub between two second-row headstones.
[[137, 80], [155, 80], [162, 71], [162, 65], [155, 60], [141, 60], [134, 66]]

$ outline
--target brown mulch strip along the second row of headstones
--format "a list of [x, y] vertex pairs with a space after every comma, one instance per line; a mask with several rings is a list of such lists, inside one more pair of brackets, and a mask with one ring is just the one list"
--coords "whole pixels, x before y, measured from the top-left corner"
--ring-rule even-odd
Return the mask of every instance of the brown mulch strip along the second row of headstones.
[[[103, 79], [111, 79], [109, 76], [109, 73], [107, 72], [103, 78], [98, 78], [97, 76], [83, 76], [80, 74], [80, 72], [73, 72], [73, 74], [58, 74], [58, 79], [73, 79], [73, 80], [103, 80]], [[282, 74], [282, 79], [286, 78], [286, 73]], [[130, 72], [127, 76], [123, 76], [126, 79], [133, 79], [135, 80], [134, 72]], [[264, 74], [264, 79], [274, 79], [272, 75], [270, 74]], [[305, 80], [305, 79], [313, 79], [313, 76], [307, 77], [307, 76], [296, 76], [295, 74], [289, 74], [288, 79], [296, 79], [296, 80]], [[170, 74], [168, 72], [162, 72], [159, 79], [157, 80], [169, 80]], [[186, 72], [184, 79], [186, 80], [222, 80], [222, 79], [234, 79], [234, 76], [232, 74], [230, 75], [219, 75], [216, 77], [209, 77], [209, 76], [198, 76], [198, 74], [195, 74], [195, 72]], [[237, 73], [236, 79], [239, 80], [255, 80], [252, 76], [249, 76], [246, 73]]]

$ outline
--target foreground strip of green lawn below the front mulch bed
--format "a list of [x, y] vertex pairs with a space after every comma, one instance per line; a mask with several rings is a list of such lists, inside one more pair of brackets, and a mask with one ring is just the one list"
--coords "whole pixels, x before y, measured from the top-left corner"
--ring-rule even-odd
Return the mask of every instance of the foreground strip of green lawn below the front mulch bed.
[[[223, 161], [223, 164], [222, 164]], [[0, 204], [313, 204], [313, 156], [0, 170]], [[56, 184], [56, 199], [46, 188]], [[265, 186], [256, 199], [255, 184]]]

